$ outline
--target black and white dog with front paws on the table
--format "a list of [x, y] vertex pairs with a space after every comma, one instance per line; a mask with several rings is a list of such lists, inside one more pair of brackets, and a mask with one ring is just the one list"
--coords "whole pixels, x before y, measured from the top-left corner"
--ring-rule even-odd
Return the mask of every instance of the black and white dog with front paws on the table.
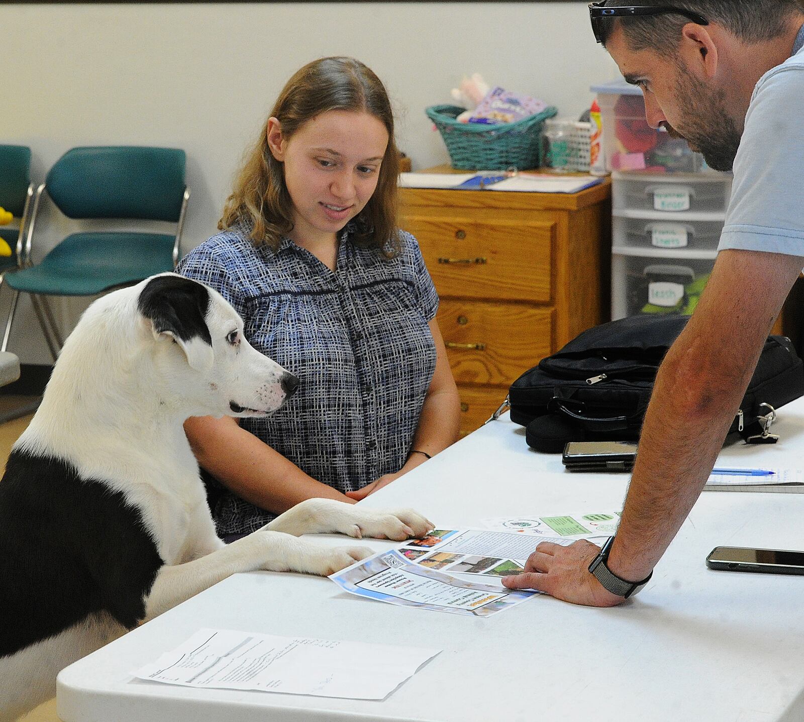
[[52, 696], [68, 664], [235, 572], [326, 575], [371, 552], [297, 535], [433, 528], [410, 510], [310, 499], [224, 546], [183, 422], [263, 416], [297, 385], [195, 281], [151, 277], [88, 308], [0, 481], [0, 720]]

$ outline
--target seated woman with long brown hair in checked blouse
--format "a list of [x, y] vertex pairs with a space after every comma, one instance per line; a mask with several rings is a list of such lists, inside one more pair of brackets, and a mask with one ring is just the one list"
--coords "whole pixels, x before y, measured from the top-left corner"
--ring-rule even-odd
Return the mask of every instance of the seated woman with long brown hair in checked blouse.
[[267, 418], [187, 420], [219, 482], [220, 535], [311, 497], [355, 501], [457, 438], [458, 398], [418, 244], [396, 226], [388, 94], [351, 58], [285, 85], [224, 207], [179, 266], [222, 293], [244, 334], [301, 379]]

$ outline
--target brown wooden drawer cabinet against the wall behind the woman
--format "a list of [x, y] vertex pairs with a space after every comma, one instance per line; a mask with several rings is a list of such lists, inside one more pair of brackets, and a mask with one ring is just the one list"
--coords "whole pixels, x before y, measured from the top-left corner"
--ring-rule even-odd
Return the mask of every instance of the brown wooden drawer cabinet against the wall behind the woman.
[[419, 241], [441, 297], [464, 435], [523, 371], [608, 320], [610, 183], [572, 195], [403, 188], [400, 196], [400, 225]]

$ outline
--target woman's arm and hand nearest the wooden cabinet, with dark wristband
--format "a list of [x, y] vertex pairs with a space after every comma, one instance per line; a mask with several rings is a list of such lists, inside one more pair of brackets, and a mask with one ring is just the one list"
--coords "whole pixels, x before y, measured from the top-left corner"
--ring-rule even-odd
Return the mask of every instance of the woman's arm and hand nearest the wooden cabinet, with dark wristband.
[[[457, 386], [449, 368], [444, 339], [441, 338], [441, 330], [435, 318], [429, 326], [436, 344], [436, 369], [433, 371], [433, 379], [425, 396], [425, 404], [421, 408], [419, 426], [413, 437], [411, 449], [423, 451], [432, 457], [457, 441], [461, 425], [461, 400], [457, 395]], [[357, 501], [366, 498], [426, 461], [424, 453], [411, 453], [408, 461], [396, 474], [385, 474], [368, 486], [363, 486], [363, 489], [347, 491], [347, 496]]]

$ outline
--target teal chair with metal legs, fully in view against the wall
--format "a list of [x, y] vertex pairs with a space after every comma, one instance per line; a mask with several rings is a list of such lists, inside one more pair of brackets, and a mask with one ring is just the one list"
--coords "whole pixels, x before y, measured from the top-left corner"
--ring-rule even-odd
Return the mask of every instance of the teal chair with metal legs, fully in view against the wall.
[[[24, 268], [6, 274], [14, 298], [2, 351], [21, 292], [31, 294], [55, 361], [64, 341], [47, 297], [94, 296], [175, 268], [190, 198], [185, 161], [184, 151], [174, 148], [111, 146], [73, 148], [55, 162], [34, 195], [22, 248]], [[68, 218], [167, 221], [176, 224], [175, 232], [73, 233], [33, 265], [32, 239], [45, 191]]]

